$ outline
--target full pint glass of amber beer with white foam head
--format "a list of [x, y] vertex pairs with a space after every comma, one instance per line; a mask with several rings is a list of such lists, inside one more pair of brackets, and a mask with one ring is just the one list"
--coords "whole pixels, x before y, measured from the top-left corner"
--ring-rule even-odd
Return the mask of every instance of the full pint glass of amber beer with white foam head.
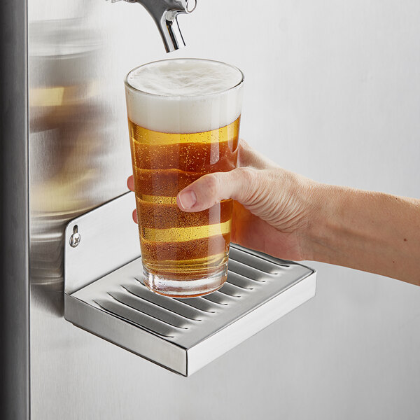
[[125, 78], [144, 283], [171, 297], [207, 295], [228, 276], [232, 200], [197, 213], [176, 195], [237, 167], [244, 75], [207, 59], [165, 59]]

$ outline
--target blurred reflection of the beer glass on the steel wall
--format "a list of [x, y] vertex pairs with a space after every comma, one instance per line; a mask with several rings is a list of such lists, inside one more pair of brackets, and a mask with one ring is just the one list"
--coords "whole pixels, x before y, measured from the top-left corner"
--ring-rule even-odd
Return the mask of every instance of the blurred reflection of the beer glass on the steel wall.
[[41, 20], [29, 34], [31, 281], [62, 287], [66, 222], [115, 195], [101, 181], [125, 143], [113, 147], [94, 27], [83, 18]]

